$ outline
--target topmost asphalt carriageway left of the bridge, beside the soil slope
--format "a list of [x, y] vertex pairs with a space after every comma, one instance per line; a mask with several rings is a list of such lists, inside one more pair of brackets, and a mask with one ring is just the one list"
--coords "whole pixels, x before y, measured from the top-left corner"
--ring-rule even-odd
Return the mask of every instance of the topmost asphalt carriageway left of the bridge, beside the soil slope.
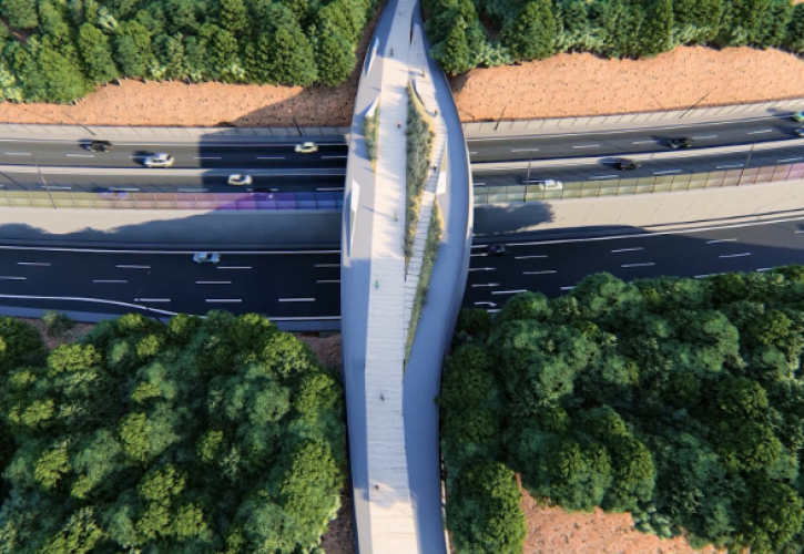
[[0, 141], [0, 164], [75, 165], [86, 167], [143, 167], [145, 156], [165, 152], [175, 158], [173, 167], [259, 168], [259, 167], [344, 167], [347, 144], [342, 136], [313, 138], [318, 152], [298, 154], [294, 142], [266, 140], [263, 143], [225, 140], [197, 144], [153, 142], [114, 142], [112, 152], [94, 153], [79, 141]]

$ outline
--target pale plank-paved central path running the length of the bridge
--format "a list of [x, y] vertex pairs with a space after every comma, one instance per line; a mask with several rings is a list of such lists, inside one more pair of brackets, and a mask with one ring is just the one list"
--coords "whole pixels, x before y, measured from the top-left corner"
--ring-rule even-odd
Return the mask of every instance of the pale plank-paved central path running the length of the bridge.
[[385, 44], [380, 86], [372, 289], [366, 337], [366, 434], [372, 551], [417, 554], [403, 419], [405, 359], [405, 121], [415, 0], [400, 1]]

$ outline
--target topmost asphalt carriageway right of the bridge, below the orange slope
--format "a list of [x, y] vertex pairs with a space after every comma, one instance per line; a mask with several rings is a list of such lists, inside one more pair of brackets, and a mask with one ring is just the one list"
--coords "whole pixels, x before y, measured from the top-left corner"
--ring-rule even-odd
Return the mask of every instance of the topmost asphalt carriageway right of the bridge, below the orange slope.
[[557, 130], [556, 134], [500, 138], [470, 138], [467, 141], [472, 163], [528, 161], [553, 157], [589, 157], [604, 155], [669, 152], [671, 138], [695, 138], [694, 147], [757, 144], [767, 141], [798, 138], [795, 130], [802, 127], [790, 115], [759, 117], [729, 123], [702, 123], [685, 126], [599, 132]]

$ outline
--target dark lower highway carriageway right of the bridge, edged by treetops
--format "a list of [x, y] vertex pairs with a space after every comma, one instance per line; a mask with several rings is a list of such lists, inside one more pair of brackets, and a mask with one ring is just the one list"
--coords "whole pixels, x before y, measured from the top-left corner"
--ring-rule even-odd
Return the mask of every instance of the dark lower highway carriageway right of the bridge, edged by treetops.
[[731, 228], [559, 240], [508, 240], [506, 254], [472, 247], [464, 305], [496, 310], [526, 290], [566, 294], [584, 276], [608, 271], [633, 280], [662, 275], [703, 278], [804, 264], [804, 219]]

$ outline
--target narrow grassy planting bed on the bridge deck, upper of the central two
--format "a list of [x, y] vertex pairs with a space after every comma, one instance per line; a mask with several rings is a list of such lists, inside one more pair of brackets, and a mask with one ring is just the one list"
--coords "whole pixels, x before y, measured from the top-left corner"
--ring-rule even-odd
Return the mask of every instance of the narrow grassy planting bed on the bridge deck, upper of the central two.
[[421, 102], [413, 84], [408, 83], [408, 121], [407, 140], [407, 202], [405, 214], [405, 270], [410, 261], [416, 237], [416, 224], [419, 220], [421, 194], [427, 183], [427, 172], [430, 167], [432, 141], [436, 136], [432, 117]]

